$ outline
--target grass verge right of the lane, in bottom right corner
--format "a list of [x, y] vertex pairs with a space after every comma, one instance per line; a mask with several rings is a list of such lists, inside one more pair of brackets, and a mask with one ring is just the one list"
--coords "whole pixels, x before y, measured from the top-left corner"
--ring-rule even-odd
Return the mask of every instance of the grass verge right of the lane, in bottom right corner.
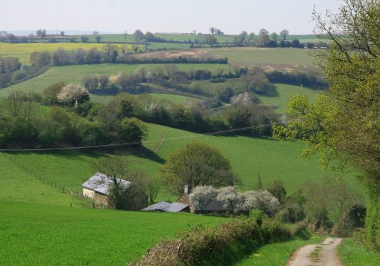
[[378, 266], [380, 265], [380, 253], [374, 253], [365, 249], [352, 238], [343, 239], [338, 246], [338, 255], [344, 266]]

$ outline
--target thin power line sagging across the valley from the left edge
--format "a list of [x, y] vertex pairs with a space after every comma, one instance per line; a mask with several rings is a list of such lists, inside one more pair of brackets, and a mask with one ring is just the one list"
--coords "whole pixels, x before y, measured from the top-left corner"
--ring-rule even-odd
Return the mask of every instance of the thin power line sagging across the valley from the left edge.
[[[284, 122], [274, 122], [273, 124], [283, 124]], [[240, 131], [248, 131], [251, 129], [260, 129], [265, 128], [268, 126], [272, 126], [272, 124], [260, 124], [257, 126], [247, 126], [242, 127], [239, 129], [228, 129], [225, 131], [215, 131], [210, 133], [201, 133], [201, 134], [193, 134], [193, 135], [182, 135], [178, 137], [169, 137], [166, 138], [165, 141], [172, 141], [172, 140], [182, 140], [187, 139], [191, 137], [202, 137], [205, 135], [222, 135], [226, 133], [234, 133], [234, 132], [240, 132]], [[79, 150], [79, 149], [97, 149], [97, 148], [106, 148], [106, 147], [116, 147], [116, 146], [130, 146], [135, 144], [143, 144], [143, 143], [151, 143], [151, 142], [160, 142], [160, 140], [146, 140], [146, 141], [139, 141], [139, 142], [126, 142], [126, 143], [117, 143], [117, 144], [105, 144], [105, 145], [93, 145], [93, 146], [76, 146], [76, 147], [59, 147], [59, 148], [46, 148], [46, 149], [0, 149], [0, 151], [64, 151], [64, 150]]]

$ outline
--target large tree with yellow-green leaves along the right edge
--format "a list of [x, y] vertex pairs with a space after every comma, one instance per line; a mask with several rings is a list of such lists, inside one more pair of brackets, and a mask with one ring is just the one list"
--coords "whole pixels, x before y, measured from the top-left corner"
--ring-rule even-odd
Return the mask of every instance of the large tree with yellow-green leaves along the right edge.
[[278, 137], [302, 137], [309, 144], [303, 155], [322, 154], [319, 162], [324, 167], [351, 164], [363, 171], [361, 180], [370, 198], [366, 234], [376, 249], [380, 249], [379, 19], [377, 0], [345, 0], [339, 12], [327, 12], [326, 19], [314, 12], [315, 33], [331, 43], [317, 55], [330, 90], [315, 102], [292, 97], [287, 104], [289, 126], [275, 129]]

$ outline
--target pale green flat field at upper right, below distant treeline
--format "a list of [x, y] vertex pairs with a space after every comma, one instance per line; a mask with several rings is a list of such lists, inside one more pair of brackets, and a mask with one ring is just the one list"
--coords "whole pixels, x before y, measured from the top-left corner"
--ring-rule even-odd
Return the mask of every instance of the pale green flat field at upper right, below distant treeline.
[[290, 48], [215, 48], [210, 53], [236, 64], [313, 65], [309, 51]]

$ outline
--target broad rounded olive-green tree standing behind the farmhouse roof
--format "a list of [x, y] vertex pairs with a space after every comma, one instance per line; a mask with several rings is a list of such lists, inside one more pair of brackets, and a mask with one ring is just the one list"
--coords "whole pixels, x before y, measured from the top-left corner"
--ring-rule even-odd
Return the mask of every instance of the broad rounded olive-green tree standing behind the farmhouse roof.
[[161, 174], [168, 186], [178, 193], [185, 184], [191, 187], [220, 187], [237, 181], [229, 160], [218, 149], [196, 141], [171, 153], [161, 169]]

